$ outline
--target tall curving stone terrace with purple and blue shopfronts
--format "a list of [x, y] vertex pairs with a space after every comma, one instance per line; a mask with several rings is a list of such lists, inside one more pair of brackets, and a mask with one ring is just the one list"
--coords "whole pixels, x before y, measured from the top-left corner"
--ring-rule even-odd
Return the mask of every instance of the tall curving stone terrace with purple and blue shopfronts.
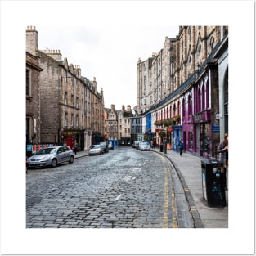
[[180, 26], [176, 38], [137, 62], [137, 108], [142, 132], [170, 149], [216, 156], [228, 131], [228, 28]]

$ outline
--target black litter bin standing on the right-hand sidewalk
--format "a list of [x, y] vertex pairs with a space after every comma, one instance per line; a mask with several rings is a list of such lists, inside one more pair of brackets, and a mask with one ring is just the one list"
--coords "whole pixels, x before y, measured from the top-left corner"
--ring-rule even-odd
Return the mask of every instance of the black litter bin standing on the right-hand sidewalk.
[[226, 170], [217, 159], [203, 159], [202, 188], [203, 196], [209, 207], [226, 206]]

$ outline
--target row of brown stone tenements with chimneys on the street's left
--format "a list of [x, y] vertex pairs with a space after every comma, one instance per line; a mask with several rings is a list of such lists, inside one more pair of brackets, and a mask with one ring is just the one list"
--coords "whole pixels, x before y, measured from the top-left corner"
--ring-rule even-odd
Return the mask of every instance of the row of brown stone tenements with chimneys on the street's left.
[[[34, 26], [27, 28], [26, 40], [27, 76], [33, 79], [27, 78], [29, 140], [36, 138], [31, 142], [44, 146], [66, 144], [72, 149], [77, 143], [79, 150], [84, 150], [104, 139], [104, 96], [102, 89], [97, 90], [96, 79], [84, 77], [79, 65], [62, 59], [59, 50], [38, 50], [38, 31]], [[32, 57], [37, 62], [33, 66], [29, 64]], [[37, 72], [33, 76], [32, 68]], [[33, 93], [33, 98], [28, 93]]]

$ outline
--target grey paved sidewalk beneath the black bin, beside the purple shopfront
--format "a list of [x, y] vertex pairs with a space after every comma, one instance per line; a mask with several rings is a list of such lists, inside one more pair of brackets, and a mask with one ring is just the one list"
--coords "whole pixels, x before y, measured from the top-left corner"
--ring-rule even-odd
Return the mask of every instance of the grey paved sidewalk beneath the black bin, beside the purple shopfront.
[[[154, 151], [159, 152], [159, 149], [154, 149]], [[173, 150], [167, 150], [166, 154], [164, 152], [159, 152], [159, 154], [167, 156], [177, 168], [177, 173], [191, 206], [191, 213], [195, 214], [195, 227], [228, 228], [228, 191], [225, 191], [227, 203], [225, 207], [213, 208], [208, 206], [202, 191], [202, 158], [190, 153], [183, 153], [180, 156]], [[199, 213], [200, 218], [197, 218], [196, 213]]]

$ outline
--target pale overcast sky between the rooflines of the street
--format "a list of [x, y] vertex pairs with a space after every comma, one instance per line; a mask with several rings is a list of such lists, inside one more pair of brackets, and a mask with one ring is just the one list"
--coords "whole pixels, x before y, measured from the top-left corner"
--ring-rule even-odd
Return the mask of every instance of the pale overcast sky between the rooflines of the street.
[[137, 105], [137, 60], [148, 59], [175, 38], [178, 26], [36, 26], [40, 50], [60, 50], [62, 59], [80, 65], [82, 75], [97, 79], [105, 106]]

